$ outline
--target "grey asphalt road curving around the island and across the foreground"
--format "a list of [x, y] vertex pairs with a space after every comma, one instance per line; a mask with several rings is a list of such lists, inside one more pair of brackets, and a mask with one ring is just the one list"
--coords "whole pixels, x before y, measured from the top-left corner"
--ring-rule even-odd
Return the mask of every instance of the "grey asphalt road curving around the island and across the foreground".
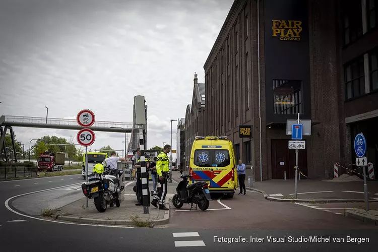
[[[228, 210], [173, 211], [171, 223], [162, 228], [122, 228], [112, 226], [69, 225], [42, 221], [16, 214], [5, 207], [9, 198], [48, 190], [60, 186], [62, 190], [75, 187], [83, 181], [81, 175], [46, 177], [0, 182], [0, 244], [4, 251], [358, 251], [376, 249], [378, 228], [343, 216], [290, 203], [267, 202], [256, 193], [221, 200]], [[172, 186], [172, 185], [171, 185]], [[56, 190], [55, 190], [56, 191]], [[67, 191], [69, 192], [69, 190]], [[64, 194], [67, 194], [65, 191]], [[51, 192], [24, 195], [22, 198], [52, 201]], [[75, 193], [74, 195], [77, 195]], [[30, 199], [28, 199], [30, 198]], [[19, 198], [8, 201], [10, 205]], [[43, 202], [43, 201], [41, 201]], [[224, 208], [216, 199], [210, 209]], [[42, 206], [42, 203], [37, 205]], [[15, 208], [13, 208], [15, 211]], [[182, 208], [181, 210], [187, 210]], [[19, 212], [19, 210], [17, 210]], [[20, 221], [23, 220], [23, 221]], [[217, 237], [265, 238], [263, 242], [214, 242]], [[286, 237], [286, 242], [270, 242], [267, 236]], [[289, 236], [330, 237], [330, 242], [289, 242]], [[347, 242], [347, 236], [369, 238], [369, 242]], [[344, 242], [333, 238], [344, 238]]]

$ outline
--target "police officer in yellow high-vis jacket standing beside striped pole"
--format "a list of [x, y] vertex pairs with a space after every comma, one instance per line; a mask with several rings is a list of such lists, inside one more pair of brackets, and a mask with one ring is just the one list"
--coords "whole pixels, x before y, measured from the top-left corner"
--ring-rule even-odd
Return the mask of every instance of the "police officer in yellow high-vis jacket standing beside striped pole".
[[168, 183], [168, 172], [169, 172], [169, 159], [168, 153], [171, 151], [170, 145], [164, 146], [164, 151], [162, 151], [157, 158], [156, 162], [156, 171], [159, 177], [159, 182], [162, 190], [160, 190], [156, 195], [155, 198], [152, 200], [151, 205], [154, 207], [158, 207], [157, 203], [159, 203], [159, 209], [168, 210], [165, 206], [165, 196], [167, 196], [167, 183]]

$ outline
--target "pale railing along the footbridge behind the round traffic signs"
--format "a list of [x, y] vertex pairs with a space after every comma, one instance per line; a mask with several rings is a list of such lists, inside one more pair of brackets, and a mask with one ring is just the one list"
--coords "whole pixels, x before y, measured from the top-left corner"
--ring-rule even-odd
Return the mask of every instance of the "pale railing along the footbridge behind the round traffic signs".
[[[28, 123], [39, 123], [46, 124], [45, 117], [34, 117], [34, 116], [15, 116], [6, 115], [6, 122], [28, 122]], [[47, 118], [47, 124], [58, 124], [58, 125], [78, 125], [76, 119], [65, 119], [65, 118]], [[118, 121], [95, 121], [94, 127], [110, 128], [110, 127], [120, 127], [124, 129], [132, 129], [132, 122], [118, 122]]]

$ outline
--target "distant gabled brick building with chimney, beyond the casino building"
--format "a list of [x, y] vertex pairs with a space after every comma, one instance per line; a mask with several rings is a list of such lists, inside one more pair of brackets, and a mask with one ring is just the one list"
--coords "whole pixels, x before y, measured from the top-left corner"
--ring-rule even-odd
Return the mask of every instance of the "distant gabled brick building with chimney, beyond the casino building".
[[185, 167], [189, 166], [192, 144], [196, 136], [203, 136], [205, 112], [205, 84], [198, 83], [194, 75], [192, 104], [188, 104], [185, 112]]

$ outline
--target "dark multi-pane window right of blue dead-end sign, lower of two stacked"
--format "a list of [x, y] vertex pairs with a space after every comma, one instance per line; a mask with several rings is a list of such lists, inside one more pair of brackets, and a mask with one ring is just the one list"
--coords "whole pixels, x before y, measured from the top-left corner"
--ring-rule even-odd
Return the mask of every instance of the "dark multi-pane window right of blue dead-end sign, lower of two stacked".
[[363, 56], [358, 57], [344, 66], [346, 99], [365, 93], [365, 72]]

